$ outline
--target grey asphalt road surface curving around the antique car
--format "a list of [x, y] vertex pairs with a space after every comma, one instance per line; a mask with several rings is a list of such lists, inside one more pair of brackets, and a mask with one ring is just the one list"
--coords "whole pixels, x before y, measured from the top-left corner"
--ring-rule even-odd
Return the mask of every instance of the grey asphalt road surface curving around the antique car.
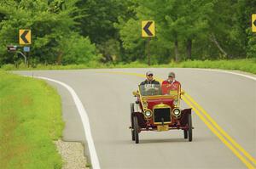
[[[140, 144], [131, 141], [131, 92], [142, 77], [105, 73], [123, 71], [144, 74], [148, 69], [38, 70], [20, 74], [45, 76], [67, 83], [78, 93], [89, 115], [92, 137], [102, 168], [246, 168], [233, 152], [193, 113], [194, 138], [182, 131], [142, 132]], [[150, 69], [165, 78], [171, 69]], [[243, 76], [194, 69], [172, 69], [186, 93], [195, 99], [218, 125], [256, 158], [256, 81]], [[64, 139], [84, 141], [83, 128], [73, 100], [52, 82], [62, 97], [67, 122]], [[189, 107], [183, 103], [183, 108]]]

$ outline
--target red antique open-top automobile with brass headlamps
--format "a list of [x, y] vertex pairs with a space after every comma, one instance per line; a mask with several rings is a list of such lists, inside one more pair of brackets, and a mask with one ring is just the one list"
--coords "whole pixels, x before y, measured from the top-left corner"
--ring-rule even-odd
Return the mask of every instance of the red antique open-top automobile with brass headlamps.
[[[192, 141], [191, 109], [180, 109], [181, 87], [172, 90], [155, 84], [140, 85], [131, 104], [131, 138], [139, 143], [143, 131], [183, 130], [184, 138]], [[135, 109], [136, 108], [136, 109]]]

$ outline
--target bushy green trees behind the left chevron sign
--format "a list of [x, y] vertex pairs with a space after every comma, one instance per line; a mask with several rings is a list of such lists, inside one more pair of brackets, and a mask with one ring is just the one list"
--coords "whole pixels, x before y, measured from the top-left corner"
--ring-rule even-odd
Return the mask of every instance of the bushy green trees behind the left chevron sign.
[[[14, 63], [17, 60], [14, 57], [15, 54], [7, 53], [6, 46], [18, 43], [17, 37], [21, 28], [32, 30], [32, 52], [30, 54], [32, 62], [61, 64], [63, 54], [67, 54], [65, 60], [67, 63], [70, 61], [83, 63], [96, 59], [96, 48], [90, 44], [90, 40], [73, 33], [77, 25], [75, 20], [82, 17], [79, 15], [79, 8], [76, 7], [77, 2], [78, 0], [50, 2], [21, 0], [18, 3], [8, 0], [2, 3], [0, 6], [0, 14], [3, 15], [3, 20], [0, 22], [0, 65], [1, 63]], [[75, 38], [78, 39], [77, 42]], [[64, 51], [66, 48], [73, 51]], [[84, 54], [78, 57], [81, 48], [89, 50], [88, 52], [80, 50]], [[70, 59], [72, 54], [74, 58]]]

